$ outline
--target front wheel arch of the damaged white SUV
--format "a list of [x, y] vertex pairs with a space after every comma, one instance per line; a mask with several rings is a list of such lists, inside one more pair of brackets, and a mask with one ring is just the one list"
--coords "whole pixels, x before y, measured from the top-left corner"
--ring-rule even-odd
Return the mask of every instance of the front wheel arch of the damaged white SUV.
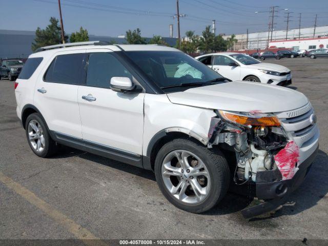
[[189, 137], [194, 141], [200, 142], [200, 144], [207, 146], [208, 141], [203, 137], [199, 136], [197, 133], [188, 130], [187, 128], [181, 127], [171, 127], [162, 129], [157, 132], [152, 139], [149, 141], [146, 156], [143, 160], [143, 165], [145, 169], [154, 171], [156, 154], [160, 148], [176, 138], [186, 138]]

